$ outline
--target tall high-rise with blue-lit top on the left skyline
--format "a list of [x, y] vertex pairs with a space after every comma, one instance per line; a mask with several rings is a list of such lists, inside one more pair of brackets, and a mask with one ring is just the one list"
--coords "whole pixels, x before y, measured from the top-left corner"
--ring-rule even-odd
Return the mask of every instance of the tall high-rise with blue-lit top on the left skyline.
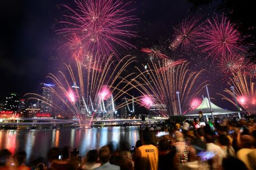
[[43, 113], [50, 113], [52, 114], [52, 104], [53, 104], [53, 91], [54, 84], [43, 84], [43, 101], [41, 102], [40, 111]]

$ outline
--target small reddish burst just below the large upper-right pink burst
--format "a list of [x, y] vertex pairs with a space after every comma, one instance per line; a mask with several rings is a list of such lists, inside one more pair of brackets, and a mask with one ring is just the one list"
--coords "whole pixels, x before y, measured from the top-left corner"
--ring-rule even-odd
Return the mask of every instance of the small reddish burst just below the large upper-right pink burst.
[[232, 73], [246, 68], [246, 61], [241, 55], [227, 55], [217, 64], [221, 73]]

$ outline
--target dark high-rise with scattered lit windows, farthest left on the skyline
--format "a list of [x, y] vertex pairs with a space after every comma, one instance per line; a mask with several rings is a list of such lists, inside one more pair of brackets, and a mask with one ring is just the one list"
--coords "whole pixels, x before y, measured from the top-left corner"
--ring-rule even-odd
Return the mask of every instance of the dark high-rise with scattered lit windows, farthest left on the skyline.
[[19, 109], [20, 96], [16, 93], [6, 95], [3, 110], [17, 112]]

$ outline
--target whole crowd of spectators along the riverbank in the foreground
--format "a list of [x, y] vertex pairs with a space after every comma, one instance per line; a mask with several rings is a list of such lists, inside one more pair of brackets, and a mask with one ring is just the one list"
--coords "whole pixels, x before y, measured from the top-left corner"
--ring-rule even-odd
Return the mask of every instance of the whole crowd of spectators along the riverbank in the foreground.
[[[200, 118], [200, 117], [199, 117]], [[47, 159], [25, 164], [26, 153], [0, 151], [0, 169], [256, 169], [256, 124], [253, 120], [185, 120], [143, 130], [143, 138], [130, 147], [112, 141], [85, 157], [77, 149], [52, 148]], [[168, 131], [154, 143], [152, 135]], [[132, 148], [132, 149], [131, 149]]]

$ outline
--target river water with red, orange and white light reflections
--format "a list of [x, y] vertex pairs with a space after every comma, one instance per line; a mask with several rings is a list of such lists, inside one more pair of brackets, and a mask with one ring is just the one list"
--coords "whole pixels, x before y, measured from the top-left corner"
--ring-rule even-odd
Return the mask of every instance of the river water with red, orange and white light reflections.
[[90, 149], [99, 149], [110, 141], [121, 140], [135, 145], [139, 140], [139, 127], [0, 130], [0, 149], [9, 149], [12, 153], [25, 150], [28, 160], [46, 157], [52, 147], [77, 148], [83, 156]]

